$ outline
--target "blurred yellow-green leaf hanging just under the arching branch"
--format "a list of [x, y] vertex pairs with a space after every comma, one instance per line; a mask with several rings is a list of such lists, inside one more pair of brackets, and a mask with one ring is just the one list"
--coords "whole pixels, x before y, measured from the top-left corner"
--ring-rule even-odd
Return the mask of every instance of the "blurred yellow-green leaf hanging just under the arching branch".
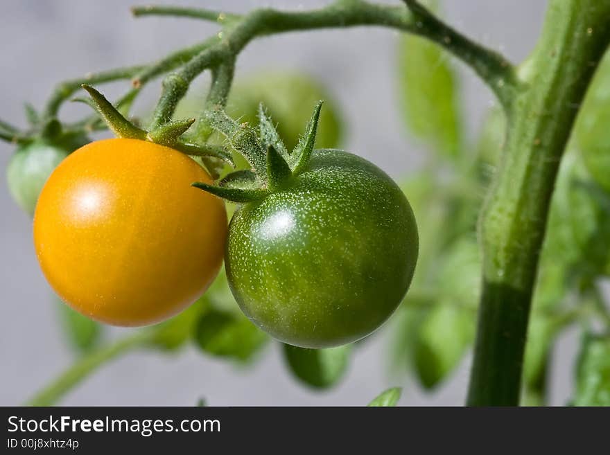
[[403, 33], [398, 68], [401, 108], [410, 132], [440, 156], [456, 159], [462, 125], [458, 77], [448, 55], [437, 44]]

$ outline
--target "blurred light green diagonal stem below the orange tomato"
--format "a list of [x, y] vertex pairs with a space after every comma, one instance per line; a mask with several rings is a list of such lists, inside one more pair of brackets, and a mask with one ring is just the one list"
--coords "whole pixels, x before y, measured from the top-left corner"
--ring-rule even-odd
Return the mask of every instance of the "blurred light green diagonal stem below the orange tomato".
[[87, 354], [85, 357], [81, 357], [49, 386], [46, 386], [30, 398], [26, 405], [51, 406], [57, 403], [66, 393], [97, 368], [129, 350], [145, 346], [152, 339], [153, 335], [153, 330], [141, 330], [129, 337], [98, 348], [98, 350]]

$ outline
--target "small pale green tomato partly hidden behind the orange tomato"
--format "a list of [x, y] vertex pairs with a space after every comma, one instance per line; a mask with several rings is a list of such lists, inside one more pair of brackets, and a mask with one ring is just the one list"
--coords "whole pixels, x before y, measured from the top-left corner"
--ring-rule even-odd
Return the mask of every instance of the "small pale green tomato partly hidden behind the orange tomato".
[[10, 195], [29, 215], [34, 214], [36, 201], [44, 182], [69, 152], [57, 145], [35, 141], [17, 149], [6, 168]]

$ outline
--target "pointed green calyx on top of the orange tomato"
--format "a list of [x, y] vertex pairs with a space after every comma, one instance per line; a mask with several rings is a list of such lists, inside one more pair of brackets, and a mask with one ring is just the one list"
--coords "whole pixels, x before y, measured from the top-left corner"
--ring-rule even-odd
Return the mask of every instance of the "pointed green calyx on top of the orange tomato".
[[171, 121], [150, 131], [142, 130], [125, 118], [121, 111], [114, 107], [102, 93], [86, 84], [83, 84], [82, 88], [89, 93], [91, 98], [76, 98], [74, 101], [85, 102], [85, 104], [95, 109], [116, 136], [124, 139], [154, 142], [193, 157], [217, 158], [234, 166], [231, 154], [222, 147], [207, 143], [193, 143], [184, 138], [183, 134], [195, 123], [195, 118]]

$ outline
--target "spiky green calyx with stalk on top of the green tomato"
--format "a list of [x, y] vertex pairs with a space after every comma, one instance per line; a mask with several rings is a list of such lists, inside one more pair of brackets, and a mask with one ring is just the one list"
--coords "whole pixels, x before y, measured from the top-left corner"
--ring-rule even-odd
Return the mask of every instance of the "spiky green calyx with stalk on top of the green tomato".
[[258, 131], [247, 123], [238, 123], [222, 109], [207, 111], [209, 125], [227, 138], [231, 147], [250, 164], [250, 169], [231, 172], [218, 185], [196, 182], [193, 186], [238, 203], [262, 199], [286, 188], [294, 177], [307, 168], [315, 145], [320, 109], [322, 101], [317, 102], [304, 136], [292, 151], [288, 151], [279, 137], [262, 103], [259, 106]]

